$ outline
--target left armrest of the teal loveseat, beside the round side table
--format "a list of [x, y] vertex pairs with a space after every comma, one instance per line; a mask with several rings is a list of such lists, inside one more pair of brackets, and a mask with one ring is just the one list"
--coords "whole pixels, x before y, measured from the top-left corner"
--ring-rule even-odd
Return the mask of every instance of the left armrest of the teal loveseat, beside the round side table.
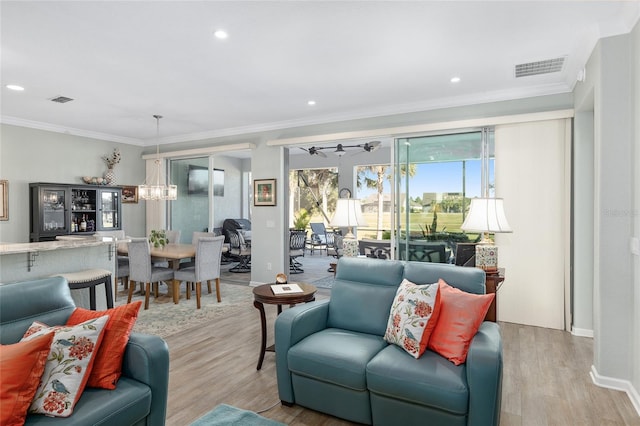
[[293, 403], [293, 386], [287, 363], [289, 348], [307, 336], [327, 328], [329, 300], [320, 300], [287, 309], [275, 323], [276, 376], [283, 402]]

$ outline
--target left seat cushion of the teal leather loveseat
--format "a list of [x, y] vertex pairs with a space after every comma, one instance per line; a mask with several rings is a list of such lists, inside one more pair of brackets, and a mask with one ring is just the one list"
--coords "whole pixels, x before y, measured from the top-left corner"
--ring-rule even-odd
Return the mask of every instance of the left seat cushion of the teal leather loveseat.
[[380, 336], [327, 328], [289, 349], [287, 362], [294, 374], [362, 391], [367, 363], [385, 346]]

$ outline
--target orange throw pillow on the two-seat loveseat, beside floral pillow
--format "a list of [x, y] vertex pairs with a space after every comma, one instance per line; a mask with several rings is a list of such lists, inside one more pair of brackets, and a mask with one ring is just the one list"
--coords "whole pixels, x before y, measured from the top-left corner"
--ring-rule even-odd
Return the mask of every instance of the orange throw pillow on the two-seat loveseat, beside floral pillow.
[[495, 294], [471, 294], [440, 284], [440, 317], [431, 333], [428, 348], [455, 365], [467, 360], [471, 339], [478, 332]]

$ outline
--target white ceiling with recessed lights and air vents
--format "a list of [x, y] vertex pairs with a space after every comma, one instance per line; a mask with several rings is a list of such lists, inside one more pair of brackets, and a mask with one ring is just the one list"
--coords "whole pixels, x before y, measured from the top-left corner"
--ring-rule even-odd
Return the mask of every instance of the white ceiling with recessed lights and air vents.
[[[138, 145], [156, 143], [153, 114], [169, 143], [568, 92], [597, 40], [640, 16], [639, 1], [0, 7], [2, 122]], [[560, 72], [514, 77], [561, 56]]]

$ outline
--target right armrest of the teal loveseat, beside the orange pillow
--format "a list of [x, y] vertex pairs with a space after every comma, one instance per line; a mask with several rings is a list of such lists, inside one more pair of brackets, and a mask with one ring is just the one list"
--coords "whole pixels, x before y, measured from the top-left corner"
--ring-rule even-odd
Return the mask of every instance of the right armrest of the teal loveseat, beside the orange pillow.
[[502, 337], [500, 326], [485, 321], [480, 325], [467, 354], [469, 385], [468, 424], [500, 424], [502, 399]]

